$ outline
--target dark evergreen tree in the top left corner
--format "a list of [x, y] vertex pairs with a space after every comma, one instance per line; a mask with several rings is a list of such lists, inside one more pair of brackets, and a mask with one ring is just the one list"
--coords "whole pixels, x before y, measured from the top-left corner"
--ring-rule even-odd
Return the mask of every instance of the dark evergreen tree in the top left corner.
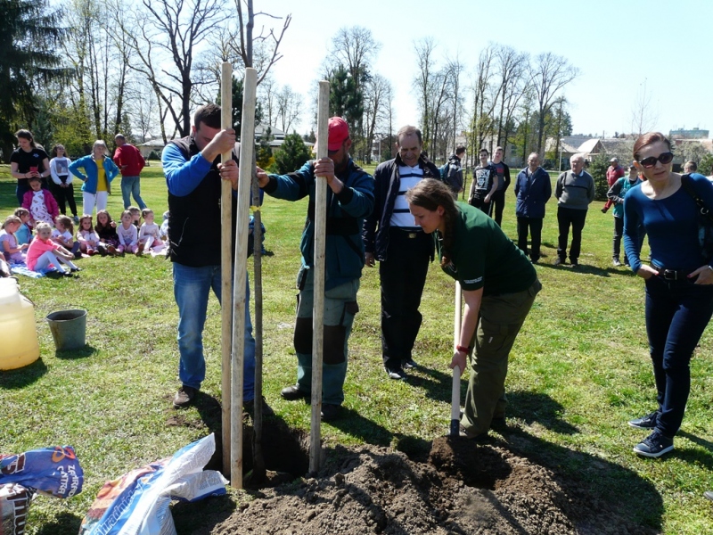
[[66, 76], [59, 44], [61, 12], [46, 0], [0, 2], [0, 147], [10, 159], [14, 131], [31, 127], [37, 112], [37, 86]]

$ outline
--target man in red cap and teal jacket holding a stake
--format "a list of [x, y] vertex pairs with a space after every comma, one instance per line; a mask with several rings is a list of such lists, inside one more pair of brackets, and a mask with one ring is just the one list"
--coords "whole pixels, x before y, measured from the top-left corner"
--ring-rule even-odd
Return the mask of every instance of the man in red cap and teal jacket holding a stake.
[[[319, 143], [319, 140], [317, 140]], [[299, 245], [302, 265], [297, 276], [299, 290], [294, 347], [297, 353], [297, 383], [283, 388], [283, 399], [309, 399], [312, 383], [312, 306], [315, 254], [315, 191], [327, 182], [327, 242], [324, 278], [324, 364], [322, 419], [340, 416], [347, 376], [348, 338], [359, 308], [356, 291], [364, 268], [361, 230], [373, 210], [373, 178], [349, 157], [349, 128], [344, 119], [329, 119], [329, 158], [307, 161], [287, 175], [267, 175], [258, 169], [260, 187], [268, 195], [299, 201], [309, 197], [307, 224]]]

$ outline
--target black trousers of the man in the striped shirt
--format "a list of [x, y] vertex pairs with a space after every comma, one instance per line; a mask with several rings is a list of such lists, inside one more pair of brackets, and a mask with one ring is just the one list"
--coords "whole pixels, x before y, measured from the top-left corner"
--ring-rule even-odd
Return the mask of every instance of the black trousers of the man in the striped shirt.
[[400, 369], [411, 358], [421, 328], [418, 308], [432, 249], [431, 235], [389, 228], [387, 259], [379, 264], [381, 352], [384, 366], [389, 369]]

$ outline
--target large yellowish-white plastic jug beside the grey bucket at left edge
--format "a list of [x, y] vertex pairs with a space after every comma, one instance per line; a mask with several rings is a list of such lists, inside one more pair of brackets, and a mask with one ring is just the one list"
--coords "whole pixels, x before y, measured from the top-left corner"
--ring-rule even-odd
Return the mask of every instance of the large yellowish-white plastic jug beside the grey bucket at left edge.
[[35, 306], [13, 278], [0, 278], [0, 370], [27, 366], [39, 358]]

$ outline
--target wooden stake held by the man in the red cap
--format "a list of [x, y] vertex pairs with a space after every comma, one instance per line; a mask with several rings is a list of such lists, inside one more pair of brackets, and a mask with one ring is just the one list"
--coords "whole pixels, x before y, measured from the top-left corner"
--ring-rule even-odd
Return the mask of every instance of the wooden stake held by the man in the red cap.
[[[329, 82], [319, 82], [317, 160], [327, 157], [329, 145]], [[309, 431], [309, 471], [318, 472], [322, 460], [322, 358], [324, 351], [324, 250], [327, 239], [327, 180], [315, 184], [314, 309], [312, 310], [312, 422]]]

